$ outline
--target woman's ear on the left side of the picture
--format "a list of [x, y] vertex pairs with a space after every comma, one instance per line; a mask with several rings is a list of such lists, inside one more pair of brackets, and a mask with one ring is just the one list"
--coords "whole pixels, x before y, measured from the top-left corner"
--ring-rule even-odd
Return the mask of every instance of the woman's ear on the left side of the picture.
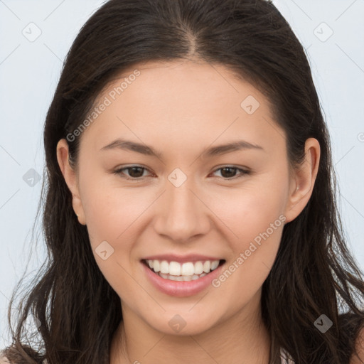
[[57, 160], [62, 171], [65, 183], [67, 184], [70, 192], [72, 193], [72, 205], [78, 221], [82, 225], [86, 225], [85, 213], [82, 208], [80, 191], [78, 188], [77, 172], [70, 166], [68, 143], [65, 139], [60, 139], [57, 144]]

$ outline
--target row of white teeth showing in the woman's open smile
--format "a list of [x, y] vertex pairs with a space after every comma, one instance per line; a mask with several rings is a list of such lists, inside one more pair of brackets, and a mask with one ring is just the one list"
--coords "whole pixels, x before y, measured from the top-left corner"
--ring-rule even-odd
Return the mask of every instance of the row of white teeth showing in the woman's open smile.
[[[207, 274], [210, 273], [210, 271], [215, 270], [220, 260], [206, 260], [205, 262], [186, 262], [186, 263], [178, 263], [178, 262], [167, 262], [166, 260], [147, 260], [146, 261], [149, 267], [154, 270], [154, 272], [158, 273], [161, 272], [161, 274], [164, 274], [168, 277], [187, 277], [188, 280], [191, 279], [197, 279], [194, 278], [194, 276], [203, 277], [200, 274]], [[184, 278], [183, 278], [184, 279]], [[183, 280], [183, 279], [172, 279], [172, 280]]]

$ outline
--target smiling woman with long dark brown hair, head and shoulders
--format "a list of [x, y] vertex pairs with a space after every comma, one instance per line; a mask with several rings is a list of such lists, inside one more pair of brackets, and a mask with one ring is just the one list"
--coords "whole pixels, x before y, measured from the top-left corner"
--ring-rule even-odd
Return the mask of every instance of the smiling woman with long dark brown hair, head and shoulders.
[[363, 363], [328, 131], [270, 1], [108, 1], [44, 143], [49, 261], [10, 363]]

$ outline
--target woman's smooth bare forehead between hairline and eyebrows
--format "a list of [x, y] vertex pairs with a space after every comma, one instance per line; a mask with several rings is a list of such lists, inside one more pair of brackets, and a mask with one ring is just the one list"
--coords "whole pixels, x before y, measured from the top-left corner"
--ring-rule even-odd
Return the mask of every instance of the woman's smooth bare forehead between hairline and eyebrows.
[[136, 141], [167, 139], [176, 147], [237, 134], [277, 142], [267, 98], [223, 65], [190, 60], [135, 65], [109, 82], [95, 107], [102, 104], [107, 107], [84, 133], [95, 137], [98, 149], [126, 134]]

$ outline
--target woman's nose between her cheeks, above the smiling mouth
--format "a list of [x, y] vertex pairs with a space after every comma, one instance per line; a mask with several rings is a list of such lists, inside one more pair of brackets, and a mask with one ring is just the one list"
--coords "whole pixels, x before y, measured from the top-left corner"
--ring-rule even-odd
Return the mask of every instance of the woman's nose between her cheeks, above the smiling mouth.
[[187, 242], [210, 229], [211, 213], [205, 194], [192, 183], [179, 187], [166, 179], [166, 191], [158, 200], [154, 230], [176, 242]]

